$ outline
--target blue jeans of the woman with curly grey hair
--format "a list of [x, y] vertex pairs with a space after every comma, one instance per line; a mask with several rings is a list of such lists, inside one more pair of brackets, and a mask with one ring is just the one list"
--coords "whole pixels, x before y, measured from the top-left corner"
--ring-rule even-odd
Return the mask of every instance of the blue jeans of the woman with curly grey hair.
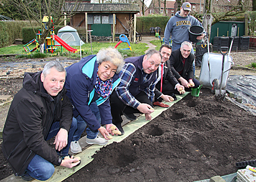
[[[96, 102], [92, 102], [89, 107], [92, 110], [93, 114], [96, 116], [97, 121], [101, 123], [101, 115], [100, 115], [100, 111], [98, 110], [98, 106]], [[86, 127], [86, 123], [84, 119], [82, 119], [81, 115], [78, 115], [75, 119], [77, 120], [77, 130], [73, 135], [72, 141], [78, 141]], [[98, 130], [91, 130], [90, 127], [88, 127], [86, 129], [86, 133], [87, 133], [88, 139], [94, 139], [98, 135]]]

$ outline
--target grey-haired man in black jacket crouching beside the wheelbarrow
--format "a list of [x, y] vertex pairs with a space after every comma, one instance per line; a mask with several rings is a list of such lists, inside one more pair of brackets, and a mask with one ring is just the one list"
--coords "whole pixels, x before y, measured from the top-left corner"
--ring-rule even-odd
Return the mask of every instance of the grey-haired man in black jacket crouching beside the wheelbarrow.
[[176, 79], [185, 87], [185, 91], [200, 86], [200, 82], [194, 78], [193, 60], [195, 56], [191, 53], [192, 44], [183, 42], [180, 49], [172, 51], [170, 57], [171, 71]]

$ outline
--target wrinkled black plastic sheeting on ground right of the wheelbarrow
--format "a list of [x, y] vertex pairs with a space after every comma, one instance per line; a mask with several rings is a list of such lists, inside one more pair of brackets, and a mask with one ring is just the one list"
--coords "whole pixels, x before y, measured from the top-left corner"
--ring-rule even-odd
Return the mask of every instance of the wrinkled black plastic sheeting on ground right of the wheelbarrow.
[[256, 106], [256, 76], [232, 75], [228, 77], [226, 91], [242, 97], [242, 104]]

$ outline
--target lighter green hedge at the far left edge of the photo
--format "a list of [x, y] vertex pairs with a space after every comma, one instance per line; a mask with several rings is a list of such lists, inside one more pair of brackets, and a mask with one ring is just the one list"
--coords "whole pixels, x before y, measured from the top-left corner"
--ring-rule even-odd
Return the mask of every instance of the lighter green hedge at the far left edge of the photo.
[[22, 39], [22, 28], [30, 26], [29, 21], [0, 22], [0, 48], [10, 46], [15, 39]]

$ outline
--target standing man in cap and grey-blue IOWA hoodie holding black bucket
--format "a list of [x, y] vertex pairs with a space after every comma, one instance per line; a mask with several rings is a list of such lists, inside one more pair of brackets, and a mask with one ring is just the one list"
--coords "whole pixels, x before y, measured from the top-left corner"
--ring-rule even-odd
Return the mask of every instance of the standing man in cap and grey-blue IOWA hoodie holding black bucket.
[[[197, 20], [194, 16], [190, 15], [191, 11], [191, 3], [184, 2], [180, 7], [180, 11], [177, 11], [175, 16], [172, 16], [166, 25], [166, 29], [164, 30], [164, 44], [169, 45], [170, 36], [172, 36], [172, 51], [179, 49], [181, 43], [189, 40], [189, 32], [188, 28], [193, 25], [202, 26], [202, 24]], [[201, 36], [197, 36], [197, 40], [201, 40], [205, 37], [206, 32], [204, 32]], [[193, 48], [191, 49], [191, 53], [194, 54]], [[193, 72], [195, 75], [195, 63], [193, 63]]]

